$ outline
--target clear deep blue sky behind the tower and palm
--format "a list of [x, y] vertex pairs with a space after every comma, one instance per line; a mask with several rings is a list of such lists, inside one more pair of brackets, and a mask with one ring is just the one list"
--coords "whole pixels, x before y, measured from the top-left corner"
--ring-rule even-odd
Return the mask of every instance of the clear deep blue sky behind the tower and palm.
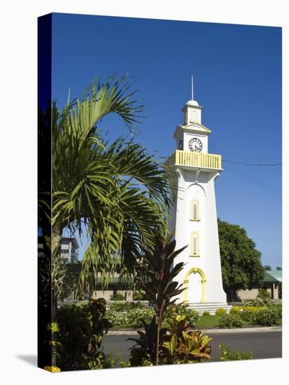
[[[281, 28], [53, 14], [53, 98], [60, 106], [69, 87], [79, 97], [95, 76], [115, 72], [129, 73], [143, 99], [137, 141], [148, 151], [174, 151], [194, 75], [194, 99], [212, 131], [209, 152], [231, 162], [281, 163]], [[102, 129], [109, 139], [128, 134], [116, 117]], [[281, 167], [223, 167], [218, 217], [246, 228], [263, 263], [280, 266]]]

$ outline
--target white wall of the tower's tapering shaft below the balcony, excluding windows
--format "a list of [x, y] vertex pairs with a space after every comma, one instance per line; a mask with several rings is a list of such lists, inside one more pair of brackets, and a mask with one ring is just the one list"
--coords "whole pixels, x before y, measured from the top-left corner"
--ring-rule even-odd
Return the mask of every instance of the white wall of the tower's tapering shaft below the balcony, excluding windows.
[[[177, 276], [177, 280], [184, 282], [184, 277], [189, 269], [199, 267], [206, 275], [206, 297], [207, 302], [227, 301], [226, 293], [222, 288], [222, 272], [220, 261], [219, 237], [217, 232], [217, 212], [215, 207], [215, 178], [216, 172], [201, 171], [196, 169], [177, 169], [178, 192], [177, 207], [175, 210], [175, 239], [176, 248], [185, 245], [188, 247], [178, 255], [177, 262], [186, 263], [184, 269]], [[199, 199], [200, 221], [190, 221], [191, 200]], [[173, 225], [173, 222], [171, 223]], [[191, 232], [199, 232], [200, 256], [190, 256]], [[191, 275], [197, 276], [191, 277]], [[201, 276], [191, 274], [189, 276], [188, 299], [194, 302], [199, 297], [201, 290]], [[184, 293], [179, 296], [177, 302], [184, 300]]]

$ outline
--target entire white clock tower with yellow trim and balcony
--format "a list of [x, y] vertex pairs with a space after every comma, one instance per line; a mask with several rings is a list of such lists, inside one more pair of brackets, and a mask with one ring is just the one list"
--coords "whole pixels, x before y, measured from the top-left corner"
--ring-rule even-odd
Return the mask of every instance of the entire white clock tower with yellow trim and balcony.
[[202, 107], [193, 92], [191, 99], [182, 109], [183, 124], [175, 130], [177, 149], [168, 158], [175, 186], [170, 230], [175, 232], [176, 249], [188, 245], [175, 258], [175, 264], [186, 264], [176, 278], [185, 288], [177, 302], [214, 313], [219, 307], [230, 308], [222, 287], [215, 203], [215, 179], [222, 172], [222, 157], [208, 153], [210, 130], [201, 124]]

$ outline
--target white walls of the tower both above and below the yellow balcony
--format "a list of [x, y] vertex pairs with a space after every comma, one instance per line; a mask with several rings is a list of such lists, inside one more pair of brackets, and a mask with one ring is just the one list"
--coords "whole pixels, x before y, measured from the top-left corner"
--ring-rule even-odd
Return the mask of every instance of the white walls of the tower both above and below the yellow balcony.
[[[184, 112], [184, 125], [191, 122], [201, 124], [201, 107], [189, 105]], [[195, 126], [192, 126], [195, 127]], [[175, 131], [177, 146], [183, 142], [183, 150], [189, 150], [189, 141], [199, 138], [203, 144], [202, 153], [208, 153], [208, 134], [200, 125], [203, 132], [191, 132], [192, 127], [178, 126]], [[195, 128], [196, 130], [196, 128]], [[215, 179], [220, 173], [217, 170], [200, 169], [196, 167], [176, 166], [175, 186], [177, 186], [177, 200], [171, 207], [170, 230], [175, 231], [176, 248], [187, 248], [175, 258], [175, 264], [184, 262], [186, 265], [177, 276], [180, 283], [190, 269], [196, 267], [206, 276], [206, 302], [226, 303], [227, 295], [222, 287], [222, 270], [220, 258], [219, 236], [217, 230], [217, 211], [215, 203]], [[191, 221], [191, 200], [199, 200], [200, 221]], [[191, 232], [199, 233], [199, 256], [191, 256]], [[188, 300], [191, 303], [201, 302], [201, 275], [196, 272], [189, 275]], [[177, 302], [184, 301], [184, 292]]]

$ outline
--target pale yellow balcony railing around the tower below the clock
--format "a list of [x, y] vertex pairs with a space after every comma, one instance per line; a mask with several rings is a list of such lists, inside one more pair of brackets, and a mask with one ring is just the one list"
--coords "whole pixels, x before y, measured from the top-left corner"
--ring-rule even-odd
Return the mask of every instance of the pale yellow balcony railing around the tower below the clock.
[[170, 156], [170, 162], [174, 162], [176, 166], [222, 169], [222, 156], [215, 154], [176, 150]]

